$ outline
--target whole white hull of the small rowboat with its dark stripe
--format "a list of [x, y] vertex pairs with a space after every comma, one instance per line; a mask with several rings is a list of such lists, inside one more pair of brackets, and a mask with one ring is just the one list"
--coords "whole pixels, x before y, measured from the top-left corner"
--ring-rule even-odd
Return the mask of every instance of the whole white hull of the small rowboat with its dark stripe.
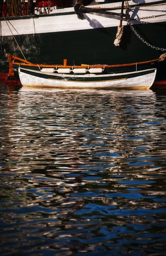
[[49, 74], [19, 67], [19, 79], [23, 86], [54, 88], [150, 88], [156, 69], [120, 74]]

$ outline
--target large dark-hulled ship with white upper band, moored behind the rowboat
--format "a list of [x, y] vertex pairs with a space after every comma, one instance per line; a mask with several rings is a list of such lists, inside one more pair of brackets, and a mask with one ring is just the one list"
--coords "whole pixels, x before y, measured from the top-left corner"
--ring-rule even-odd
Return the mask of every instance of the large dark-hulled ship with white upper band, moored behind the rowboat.
[[[0, 72], [9, 53], [46, 64], [157, 59], [166, 53], [166, 0], [0, 0]], [[154, 66], [166, 80], [166, 61]]]

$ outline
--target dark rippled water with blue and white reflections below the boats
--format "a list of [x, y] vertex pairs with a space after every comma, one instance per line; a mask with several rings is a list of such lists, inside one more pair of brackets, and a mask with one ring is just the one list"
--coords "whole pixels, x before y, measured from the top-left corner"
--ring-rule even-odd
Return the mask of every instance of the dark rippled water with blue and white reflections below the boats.
[[0, 94], [1, 255], [165, 255], [166, 90]]

